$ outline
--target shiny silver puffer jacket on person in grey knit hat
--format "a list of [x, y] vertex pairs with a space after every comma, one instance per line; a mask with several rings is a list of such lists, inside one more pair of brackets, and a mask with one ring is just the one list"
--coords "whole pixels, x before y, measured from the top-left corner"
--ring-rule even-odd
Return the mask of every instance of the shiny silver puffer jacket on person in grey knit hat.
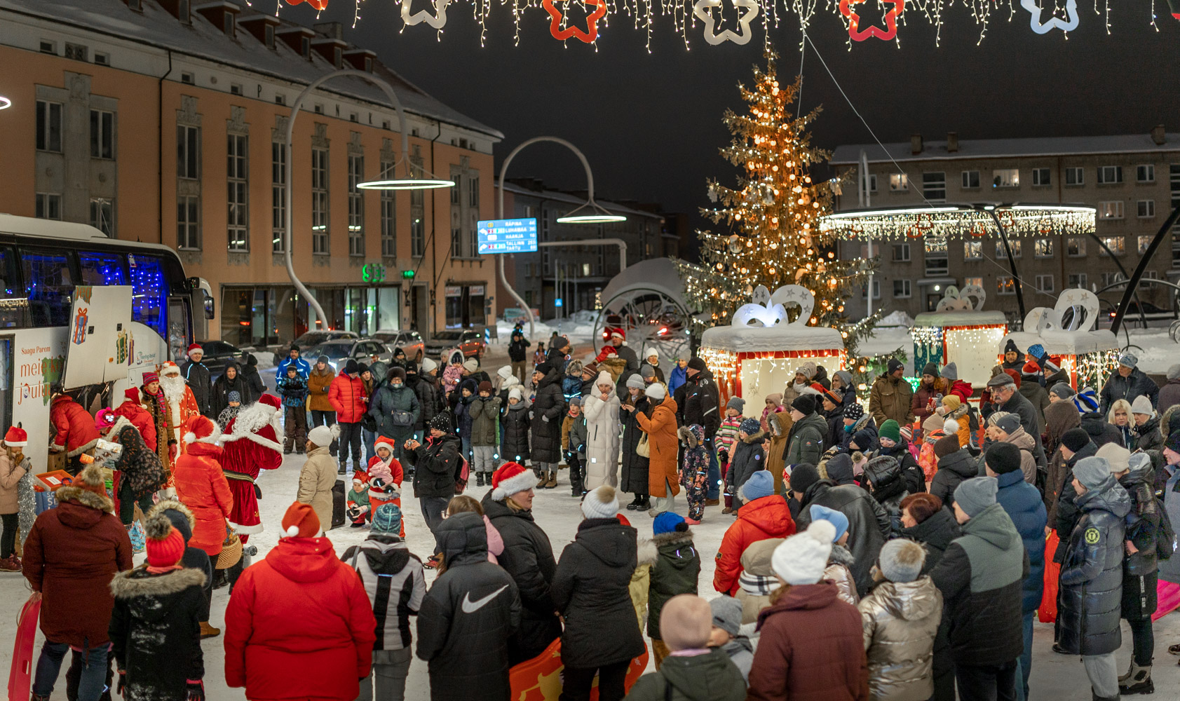
[[943, 595], [930, 577], [883, 582], [860, 600], [868, 696], [873, 701], [925, 701], [935, 693], [935, 634]]

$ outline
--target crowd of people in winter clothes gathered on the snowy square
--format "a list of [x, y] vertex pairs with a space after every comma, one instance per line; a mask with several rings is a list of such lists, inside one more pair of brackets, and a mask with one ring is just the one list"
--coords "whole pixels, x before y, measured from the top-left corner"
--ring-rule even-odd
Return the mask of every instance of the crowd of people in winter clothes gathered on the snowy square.
[[[1160, 388], [1125, 353], [1075, 392], [1010, 343], [978, 404], [955, 363], [914, 389], [893, 360], [865, 406], [808, 361], [747, 412], [701, 358], [666, 380], [620, 330], [592, 360], [548, 343], [529, 376], [519, 329], [494, 376], [458, 350], [337, 371], [293, 346], [277, 395], [250, 362], [210, 381], [195, 345], [97, 415], [55, 392], [73, 476], [55, 507], [33, 513], [24, 431], [0, 454], [0, 568], [42, 600], [33, 701], [67, 653], [71, 699], [204, 699], [223, 587], [225, 680], [250, 699], [400, 700], [417, 656], [433, 699], [507, 700], [510, 670], [557, 644], [569, 701], [1023, 700], [1047, 612], [1095, 700], [1154, 690], [1152, 616], [1180, 591], [1180, 365]], [[295, 502], [250, 564], [256, 480], [293, 452]], [[583, 519], [557, 555], [533, 499], [566, 471]], [[694, 543], [707, 516], [727, 526], [716, 553]], [[324, 532], [345, 524], [368, 533], [337, 555]], [[629, 680], [644, 633], [656, 671]]]

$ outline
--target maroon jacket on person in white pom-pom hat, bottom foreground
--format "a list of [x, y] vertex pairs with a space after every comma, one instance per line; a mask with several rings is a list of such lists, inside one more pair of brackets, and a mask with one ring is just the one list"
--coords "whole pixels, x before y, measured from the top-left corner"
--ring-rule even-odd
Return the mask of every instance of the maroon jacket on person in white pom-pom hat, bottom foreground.
[[795, 585], [758, 614], [747, 701], [867, 701], [860, 614], [837, 596], [831, 581]]

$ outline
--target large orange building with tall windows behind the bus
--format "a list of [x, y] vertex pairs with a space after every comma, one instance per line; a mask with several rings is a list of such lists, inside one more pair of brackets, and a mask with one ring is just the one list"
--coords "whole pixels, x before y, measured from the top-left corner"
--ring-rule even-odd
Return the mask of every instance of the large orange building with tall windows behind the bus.
[[[0, 112], [0, 211], [176, 248], [212, 289], [205, 338], [280, 343], [316, 326], [287, 275], [288, 188], [294, 268], [327, 326], [430, 334], [486, 322], [496, 277], [476, 222], [492, 218], [503, 135], [346, 41], [339, 24], [304, 27], [228, 0], [0, 0], [0, 60], [12, 100]], [[358, 78], [309, 96], [286, 182], [290, 104], [339, 68], [393, 86], [411, 162], [454, 188], [358, 188], [402, 157], [388, 98]]]

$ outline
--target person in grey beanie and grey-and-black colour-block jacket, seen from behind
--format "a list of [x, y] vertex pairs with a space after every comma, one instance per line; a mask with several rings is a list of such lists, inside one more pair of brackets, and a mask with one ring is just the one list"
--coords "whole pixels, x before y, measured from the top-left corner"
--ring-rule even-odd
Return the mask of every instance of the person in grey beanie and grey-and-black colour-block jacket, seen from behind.
[[1021, 590], [1029, 561], [1012, 519], [996, 503], [997, 491], [992, 477], [968, 479], [955, 490], [963, 536], [930, 572], [943, 592], [962, 701], [1015, 699], [1024, 649]]

